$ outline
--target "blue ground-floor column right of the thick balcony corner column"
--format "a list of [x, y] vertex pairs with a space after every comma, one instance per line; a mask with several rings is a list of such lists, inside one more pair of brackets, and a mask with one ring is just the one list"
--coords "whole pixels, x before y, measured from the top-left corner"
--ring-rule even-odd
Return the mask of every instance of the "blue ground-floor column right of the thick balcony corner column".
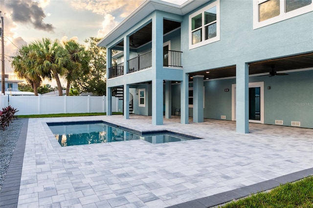
[[182, 75], [182, 82], [180, 83], [180, 123], [189, 123], [189, 107], [188, 107], [188, 90], [189, 80], [188, 74]]

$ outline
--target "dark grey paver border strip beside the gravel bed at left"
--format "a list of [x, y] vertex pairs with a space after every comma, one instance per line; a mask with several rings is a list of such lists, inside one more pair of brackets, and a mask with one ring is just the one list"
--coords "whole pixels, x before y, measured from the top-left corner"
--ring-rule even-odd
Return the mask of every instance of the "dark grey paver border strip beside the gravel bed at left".
[[1, 208], [16, 208], [18, 206], [27, 128], [28, 119], [25, 119], [0, 190]]

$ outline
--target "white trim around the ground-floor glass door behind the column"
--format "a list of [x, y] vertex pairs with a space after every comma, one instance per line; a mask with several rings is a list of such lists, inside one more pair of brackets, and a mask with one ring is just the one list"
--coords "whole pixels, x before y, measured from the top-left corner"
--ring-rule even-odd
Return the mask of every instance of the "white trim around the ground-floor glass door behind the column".
[[[264, 82], [249, 83], [250, 87], [260, 87], [260, 121], [249, 120], [249, 122], [264, 124]], [[231, 120], [236, 121], [236, 84], [231, 85]]]

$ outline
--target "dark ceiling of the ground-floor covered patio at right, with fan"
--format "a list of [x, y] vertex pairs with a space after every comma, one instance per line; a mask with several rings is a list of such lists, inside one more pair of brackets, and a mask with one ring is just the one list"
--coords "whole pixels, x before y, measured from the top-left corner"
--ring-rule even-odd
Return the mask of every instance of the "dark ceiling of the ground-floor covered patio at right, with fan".
[[[277, 58], [271, 60], [265, 60], [260, 62], [251, 62], [249, 63], [249, 75], [253, 74], [264, 74], [269, 75], [269, 72], [272, 71], [288, 71], [295, 69], [304, 69], [313, 67], [313, 52], [294, 55], [284, 58]], [[201, 72], [194, 72], [189, 74], [189, 81], [192, 81], [193, 76], [203, 75], [204, 80], [206, 79], [218, 79], [226, 77], [235, 77], [236, 76], [236, 66], [227, 66], [218, 69], [211, 69]]]

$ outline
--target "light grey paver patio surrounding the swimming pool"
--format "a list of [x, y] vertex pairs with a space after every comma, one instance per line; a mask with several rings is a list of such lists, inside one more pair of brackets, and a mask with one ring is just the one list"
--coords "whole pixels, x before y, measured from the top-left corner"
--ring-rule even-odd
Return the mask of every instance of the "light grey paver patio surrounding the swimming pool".
[[[46, 125], [90, 120], [203, 139], [62, 147]], [[235, 125], [209, 119], [181, 125], [176, 117], [155, 126], [151, 117], [135, 115], [29, 119], [18, 207], [205, 207], [234, 189], [313, 174], [313, 129], [250, 124], [249, 134], [239, 134]]]

